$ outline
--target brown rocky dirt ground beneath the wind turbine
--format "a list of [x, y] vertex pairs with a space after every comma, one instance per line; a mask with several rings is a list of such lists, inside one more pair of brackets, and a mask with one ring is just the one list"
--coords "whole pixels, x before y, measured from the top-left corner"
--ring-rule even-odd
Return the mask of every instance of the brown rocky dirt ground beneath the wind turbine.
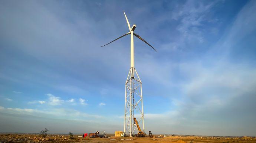
[[154, 135], [153, 138], [144, 137], [114, 137], [110, 138], [82, 138], [75, 135], [73, 139], [69, 139], [68, 135], [48, 135], [41, 137], [32, 134], [0, 134], [0, 143], [26, 142], [26, 143], [42, 143], [42, 142], [67, 142], [67, 143], [256, 143], [256, 137], [215, 137], [215, 136], [168, 136], [163, 137]]

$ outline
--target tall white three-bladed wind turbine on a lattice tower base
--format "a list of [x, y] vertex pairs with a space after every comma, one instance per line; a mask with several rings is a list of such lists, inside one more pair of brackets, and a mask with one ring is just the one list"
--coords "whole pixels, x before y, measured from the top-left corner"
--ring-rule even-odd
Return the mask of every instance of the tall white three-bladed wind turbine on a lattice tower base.
[[[125, 12], [124, 12], [125, 15]], [[130, 137], [132, 137], [132, 134], [134, 133], [136, 129], [136, 125], [133, 121], [134, 119], [134, 111], [137, 112], [138, 114], [135, 113], [135, 116], [139, 116], [138, 123], [142, 120], [142, 126], [143, 126], [143, 132], [145, 133], [144, 130], [144, 112], [143, 112], [143, 102], [142, 102], [142, 84], [140, 77], [134, 67], [134, 42], [133, 42], [133, 35], [136, 36], [137, 38], [141, 39], [141, 41], [145, 42], [149, 46], [151, 46], [147, 41], [141, 38], [141, 36], [137, 35], [134, 33], [134, 30], [136, 28], [136, 25], [132, 25], [132, 28], [129, 24], [129, 21], [127, 19], [127, 16], [125, 15], [125, 19], [128, 24], [129, 32], [127, 34], [124, 34], [120, 36], [119, 38], [116, 38], [115, 40], [107, 43], [106, 45], [126, 36], [126, 35], [131, 35], [131, 68], [129, 70], [128, 77], [125, 82], [125, 110], [124, 110], [124, 133], [130, 134]], [[106, 46], [103, 45], [103, 46]], [[103, 47], [101, 46], [101, 47]], [[154, 47], [151, 46], [155, 50]], [[157, 50], [155, 50], [157, 52]], [[136, 73], [136, 75], [134, 74]], [[135, 95], [135, 96], [134, 96]], [[141, 109], [140, 109], [140, 104], [141, 104]], [[136, 110], [135, 110], [136, 109]], [[129, 118], [127, 120], [127, 115], [129, 115]], [[133, 122], [132, 122], [133, 121]]]

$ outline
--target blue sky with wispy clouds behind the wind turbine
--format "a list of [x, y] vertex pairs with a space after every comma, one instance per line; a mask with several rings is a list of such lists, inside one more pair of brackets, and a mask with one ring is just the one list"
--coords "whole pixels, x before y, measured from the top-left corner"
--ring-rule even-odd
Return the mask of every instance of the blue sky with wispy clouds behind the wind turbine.
[[123, 129], [135, 38], [145, 130], [256, 136], [256, 1], [0, 1], [0, 132]]

